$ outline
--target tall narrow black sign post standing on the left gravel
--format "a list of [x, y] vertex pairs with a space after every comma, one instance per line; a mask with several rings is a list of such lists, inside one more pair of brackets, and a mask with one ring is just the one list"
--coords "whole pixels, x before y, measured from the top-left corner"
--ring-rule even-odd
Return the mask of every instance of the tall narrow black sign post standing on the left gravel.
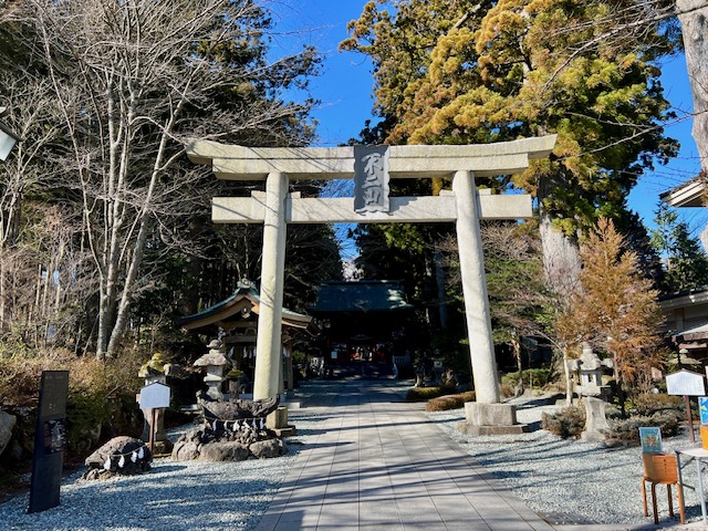
[[34, 431], [32, 486], [28, 512], [59, 506], [62, 461], [66, 450], [69, 371], [43, 371]]

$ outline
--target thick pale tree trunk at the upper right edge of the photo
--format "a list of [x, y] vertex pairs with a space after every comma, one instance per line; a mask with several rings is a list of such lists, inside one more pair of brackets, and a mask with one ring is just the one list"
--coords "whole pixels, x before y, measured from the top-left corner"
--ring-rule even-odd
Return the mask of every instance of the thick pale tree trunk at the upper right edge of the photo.
[[705, 0], [676, 0], [684, 35], [686, 67], [694, 97], [694, 129], [700, 167], [708, 175], [708, 4]]

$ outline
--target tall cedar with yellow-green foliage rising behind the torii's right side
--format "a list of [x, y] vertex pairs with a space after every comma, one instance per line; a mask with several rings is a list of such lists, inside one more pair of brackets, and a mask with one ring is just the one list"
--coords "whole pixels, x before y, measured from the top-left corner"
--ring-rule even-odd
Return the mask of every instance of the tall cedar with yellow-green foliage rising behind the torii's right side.
[[668, 103], [652, 64], [670, 43], [652, 29], [641, 41], [583, 48], [597, 23], [612, 24], [611, 11], [605, 1], [377, 0], [341, 44], [374, 62], [388, 143], [558, 133], [554, 158], [511, 181], [539, 199], [544, 268], [561, 291], [577, 275], [577, 235], [601, 215], [621, 217], [642, 171], [676, 148], [664, 136]]

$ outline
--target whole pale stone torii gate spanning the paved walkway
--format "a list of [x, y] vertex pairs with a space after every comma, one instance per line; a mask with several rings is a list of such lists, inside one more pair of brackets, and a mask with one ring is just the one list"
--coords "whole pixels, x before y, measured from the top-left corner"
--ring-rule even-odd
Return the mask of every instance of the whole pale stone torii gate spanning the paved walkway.
[[[475, 176], [521, 171], [529, 159], [549, 156], [554, 145], [555, 135], [462, 146], [249, 148], [210, 140], [188, 144], [189, 158], [210, 164], [218, 178], [266, 180], [264, 192], [215, 197], [211, 210], [217, 223], [263, 223], [253, 398], [274, 396], [279, 391], [288, 223], [447, 221], [457, 228], [477, 403], [498, 404], [479, 220], [529, 218], [531, 197], [477, 190]], [[433, 177], [452, 177], [452, 190], [435, 197], [388, 197], [388, 178]], [[303, 198], [288, 190], [291, 179], [351, 178], [355, 178], [354, 198]]]

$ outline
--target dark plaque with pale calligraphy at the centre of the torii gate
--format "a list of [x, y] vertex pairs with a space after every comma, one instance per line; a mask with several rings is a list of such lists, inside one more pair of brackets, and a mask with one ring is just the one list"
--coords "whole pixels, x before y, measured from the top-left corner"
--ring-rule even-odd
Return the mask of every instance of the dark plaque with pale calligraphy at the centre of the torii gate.
[[388, 146], [354, 146], [354, 211], [388, 212]]

